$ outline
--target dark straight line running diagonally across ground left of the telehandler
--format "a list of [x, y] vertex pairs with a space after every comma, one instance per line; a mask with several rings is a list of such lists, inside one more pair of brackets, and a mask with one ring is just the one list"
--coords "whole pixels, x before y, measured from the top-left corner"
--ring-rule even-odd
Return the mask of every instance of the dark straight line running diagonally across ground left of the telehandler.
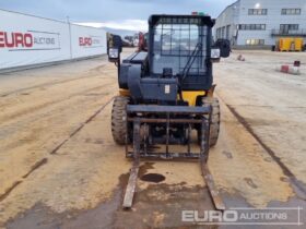
[[[58, 146], [56, 146], [49, 153], [49, 155], [55, 155], [71, 137], [73, 137], [75, 134], [78, 134], [87, 123], [90, 123], [95, 117], [97, 117], [105, 109], [105, 107], [108, 106], [113, 101], [113, 99], [114, 99], [114, 97], [108, 99], [108, 101], [106, 104], [104, 104], [98, 110], [96, 110], [91, 117], [89, 117], [89, 119], [86, 119], [78, 129], [75, 129], [66, 140], [63, 140]], [[35, 165], [33, 165], [32, 169], [28, 172], [26, 172], [24, 176], [22, 176], [22, 180], [15, 181], [12, 184], [12, 186], [7, 189], [7, 191], [2, 195], [0, 195], [0, 203], [2, 201], [4, 201], [15, 188], [17, 188], [23, 181], [25, 181], [26, 178], [28, 178], [34, 171], [42, 168], [47, 162], [48, 162], [48, 158], [45, 157], [45, 158], [40, 159], [39, 161], [37, 161]]]

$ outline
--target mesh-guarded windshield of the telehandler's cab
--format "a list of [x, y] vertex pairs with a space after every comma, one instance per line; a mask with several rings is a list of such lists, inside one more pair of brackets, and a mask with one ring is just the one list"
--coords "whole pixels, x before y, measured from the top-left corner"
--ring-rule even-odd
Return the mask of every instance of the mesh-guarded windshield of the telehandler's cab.
[[[160, 19], [154, 26], [153, 73], [162, 74], [164, 68], [170, 68], [174, 75], [181, 74], [192, 58], [189, 74], [204, 74], [207, 35], [208, 27], [200, 24], [200, 19]], [[191, 57], [195, 51], [197, 56]]]

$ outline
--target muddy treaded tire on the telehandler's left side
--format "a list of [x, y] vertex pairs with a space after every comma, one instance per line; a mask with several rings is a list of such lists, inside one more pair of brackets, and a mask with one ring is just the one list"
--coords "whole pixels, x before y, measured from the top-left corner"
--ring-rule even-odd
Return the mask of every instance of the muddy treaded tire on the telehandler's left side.
[[114, 141], [119, 144], [126, 144], [127, 134], [127, 105], [129, 97], [117, 96], [114, 99], [111, 111], [111, 134]]

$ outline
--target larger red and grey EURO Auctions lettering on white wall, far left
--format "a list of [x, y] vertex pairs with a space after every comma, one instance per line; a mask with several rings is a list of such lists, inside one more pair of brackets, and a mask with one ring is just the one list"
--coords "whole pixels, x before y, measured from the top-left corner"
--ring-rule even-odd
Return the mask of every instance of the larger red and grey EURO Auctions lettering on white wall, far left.
[[60, 49], [59, 33], [0, 31], [0, 49], [9, 51]]

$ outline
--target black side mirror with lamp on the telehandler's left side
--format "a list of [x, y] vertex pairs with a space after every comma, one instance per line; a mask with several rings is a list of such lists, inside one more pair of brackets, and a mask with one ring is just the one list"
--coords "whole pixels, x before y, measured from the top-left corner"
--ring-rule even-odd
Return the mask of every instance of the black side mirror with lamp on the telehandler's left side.
[[122, 52], [122, 40], [118, 35], [109, 35], [107, 41], [108, 61], [118, 63], [120, 62], [120, 53]]

